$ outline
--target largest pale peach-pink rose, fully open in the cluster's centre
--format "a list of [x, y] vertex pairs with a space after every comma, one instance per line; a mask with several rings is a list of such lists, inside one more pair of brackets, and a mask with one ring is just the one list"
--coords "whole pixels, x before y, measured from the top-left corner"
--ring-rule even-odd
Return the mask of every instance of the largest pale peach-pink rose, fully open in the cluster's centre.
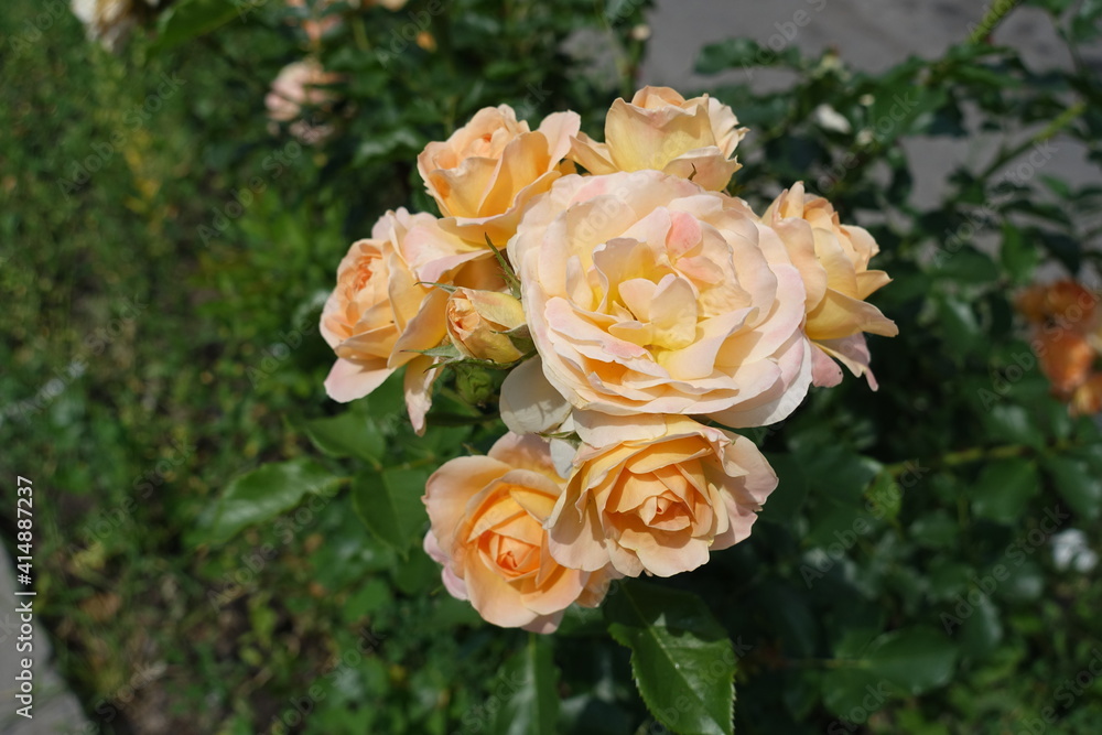
[[[570, 403], [728, 426], [780, 421], [811, 381], [803, 281], [775, 250], [745, 205], [657, 171], [565, 176], [509, 241], [542, 372]], [[545, 393], [531, 378], [511, 374], [503, 406]]]

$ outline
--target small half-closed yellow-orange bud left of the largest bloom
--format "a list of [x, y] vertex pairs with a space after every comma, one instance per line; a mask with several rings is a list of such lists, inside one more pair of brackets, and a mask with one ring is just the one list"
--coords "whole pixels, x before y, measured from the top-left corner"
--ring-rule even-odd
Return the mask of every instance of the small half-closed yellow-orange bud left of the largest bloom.
[[466, 357], [514, 363], [521, 353], [509, 335], [525, 324], [525, 310], [508, 293], [456, 289], [447, 300], [447, 335]]

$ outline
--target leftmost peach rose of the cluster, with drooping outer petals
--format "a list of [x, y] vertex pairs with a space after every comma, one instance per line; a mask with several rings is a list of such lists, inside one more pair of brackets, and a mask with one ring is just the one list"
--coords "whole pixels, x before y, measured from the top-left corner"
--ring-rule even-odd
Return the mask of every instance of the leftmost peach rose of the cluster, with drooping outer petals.
[[432, 283], [472, 289], [501, 287], [491, 253], [440, 228], [432, 215], [388, 212], [371, 237], [353, 242], [337, 268], [337, 285], [322, 311], [321, 331], [337, 360], [325, 379], [329, 398], [367, 396], [407, 366], [406, 402], [413, 428], [424, 431], [437, 370], [417, 350], [446, 336], [447, 292]]

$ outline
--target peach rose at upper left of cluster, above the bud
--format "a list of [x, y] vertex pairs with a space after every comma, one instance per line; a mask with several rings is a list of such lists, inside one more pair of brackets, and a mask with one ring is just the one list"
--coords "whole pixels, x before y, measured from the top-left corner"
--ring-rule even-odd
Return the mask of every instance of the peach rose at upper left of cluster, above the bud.
[[508, 105], [486, 107], [446, 141], [429, 143], [418, 171], [441, 213], [455, 218], [450, 224], [504, 246], [521, 207], [573, 171], [563, 158], [580, 125], [576, 114], [555, 112], [533, 131]]

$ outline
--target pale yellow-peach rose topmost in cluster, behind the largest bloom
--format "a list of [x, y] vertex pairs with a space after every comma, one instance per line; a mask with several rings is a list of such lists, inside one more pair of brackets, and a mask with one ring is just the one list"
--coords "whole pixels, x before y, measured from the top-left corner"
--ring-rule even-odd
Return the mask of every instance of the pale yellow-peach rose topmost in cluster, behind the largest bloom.
[[579, 133], [570, 158], [591, 174], [653, 169], [719, 191], [742, 167], [731, 158], [747, 132], [737, 125], [713, 97], [687, 100], [669, 87], [644, 87], [630, 102], [613, 102], [604, 143]]

